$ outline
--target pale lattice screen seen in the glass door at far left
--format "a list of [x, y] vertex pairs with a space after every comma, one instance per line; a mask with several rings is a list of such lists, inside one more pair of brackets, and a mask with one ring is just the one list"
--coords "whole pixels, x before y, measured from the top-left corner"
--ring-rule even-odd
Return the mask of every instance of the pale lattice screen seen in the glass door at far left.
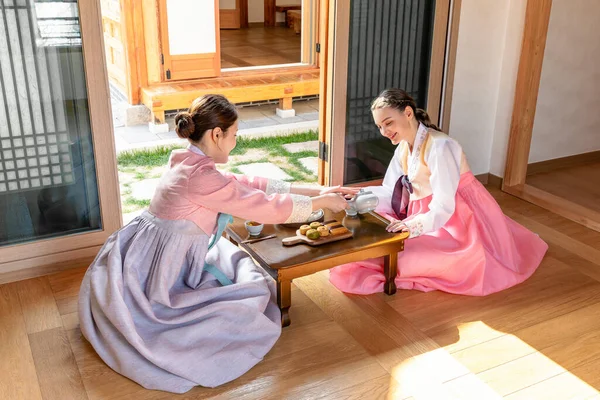
[[60, 52], [40, 37], [36, 9], [19, 3], [0, 10], [0, 194], [74, 181]]

